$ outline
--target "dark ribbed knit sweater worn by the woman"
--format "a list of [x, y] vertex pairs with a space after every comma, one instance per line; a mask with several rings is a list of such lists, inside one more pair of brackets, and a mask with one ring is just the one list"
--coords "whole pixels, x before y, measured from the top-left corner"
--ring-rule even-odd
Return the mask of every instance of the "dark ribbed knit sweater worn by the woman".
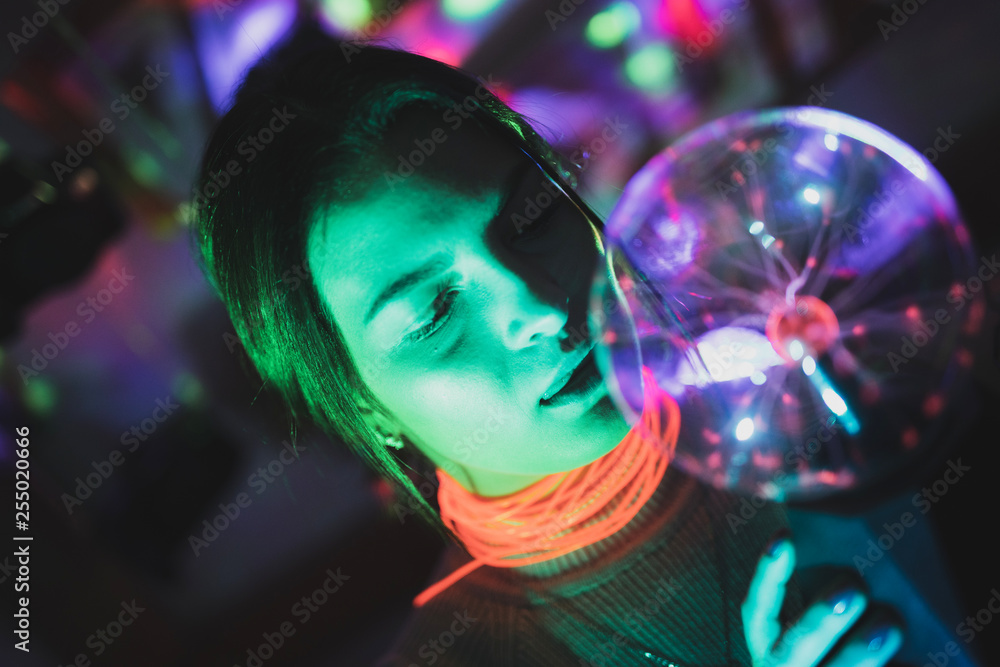
[[[781, 506], [741, 509], [669, 466], [617, 533], [552, 561], [481, 566], [415, 610], [376, 665], [750, 665], [740, 606], [786, 525]], [[428, 584], [469, 560], [450, 545]], [[786, 604], [801, 611], [794, 576]]]

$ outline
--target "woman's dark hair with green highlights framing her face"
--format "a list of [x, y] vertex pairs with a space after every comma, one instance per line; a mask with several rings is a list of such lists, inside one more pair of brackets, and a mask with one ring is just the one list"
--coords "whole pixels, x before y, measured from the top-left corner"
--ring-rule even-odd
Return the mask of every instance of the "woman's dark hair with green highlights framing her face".
[[[384, 166], [384, 135], [417, 106], [445, 110], [476, 100], [471, 120], [523, 148], [599, 225], [567, 182], [569, 165], [522, 115], [488, 89], [483, 95], [481, 85], [430, 58], [300, 28], [238, 88], [208, 141], [191, 209], [202, 269], [264, 383], [287, 404], [293, 432], [308, 417], [339, 436], [452, 539], [437, 514], [433, 464], [414, 447], [390, 453], [365, 420], [361, 399], [386, 410], [361, 379], [311, 278], [297, 289], [292, 273], [308, 272], [306, 239], [315, 212], [363, 193]], [[272, 125], [276, 117], [282, 120]], [[268, 136], [262, 130], [278, 127], [258, 150]], [[251, 139], [258, 136], [255, 146]], [[427, 483], [418, 489], [402, 463], [426, 473]]]

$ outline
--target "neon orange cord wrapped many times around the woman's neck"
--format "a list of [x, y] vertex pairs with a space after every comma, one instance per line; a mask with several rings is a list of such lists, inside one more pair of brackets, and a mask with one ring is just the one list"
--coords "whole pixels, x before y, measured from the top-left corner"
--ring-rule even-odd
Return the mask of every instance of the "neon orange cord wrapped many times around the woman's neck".
[[[680, 408], [642, 367], [643, 412], [610, 452], [585, 466], [554, 473], [515, 493], [487, 498], [437, 471], [441, 520], [473, 560], [413, 600], [414, 607], [481, 565], [520, 567], [551, 560], [613, 535], [653, 495], [673, 458]], [[661, 410], [666, 426], [661, 427]], [[604, 517], [587, 520], [619, 502]]]

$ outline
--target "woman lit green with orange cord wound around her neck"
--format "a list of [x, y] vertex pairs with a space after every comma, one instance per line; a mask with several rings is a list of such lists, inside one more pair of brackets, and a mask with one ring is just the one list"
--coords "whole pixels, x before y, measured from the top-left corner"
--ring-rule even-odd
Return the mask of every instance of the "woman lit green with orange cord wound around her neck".
[[[380, 664], [881, 665], [899, 648], [854, 582], [803, 606], [790, 542], [768, 542], [780, 507], [731, 529], [739, 499], [624, 422], [586, 325], [601, 222], [481, 81], [305, 30], [248, 74], [200, 178], [200, 255], [265, 381], [455, 543]], [[546, 505], [584, 475], [601, 488]], [[541, 530], [491, 560], [508, 538], [470, 508], [512, 498], [506, 525]]]

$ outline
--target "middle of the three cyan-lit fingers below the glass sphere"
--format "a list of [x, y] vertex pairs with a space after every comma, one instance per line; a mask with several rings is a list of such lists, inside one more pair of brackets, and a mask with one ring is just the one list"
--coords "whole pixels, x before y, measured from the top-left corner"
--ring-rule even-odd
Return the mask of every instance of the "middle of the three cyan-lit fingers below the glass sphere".
[[854, 586], [840, 586], [826, 599], [809, 607], [774, 649], [782, 664], [815, 665], [861, 618], [867, 596]]

